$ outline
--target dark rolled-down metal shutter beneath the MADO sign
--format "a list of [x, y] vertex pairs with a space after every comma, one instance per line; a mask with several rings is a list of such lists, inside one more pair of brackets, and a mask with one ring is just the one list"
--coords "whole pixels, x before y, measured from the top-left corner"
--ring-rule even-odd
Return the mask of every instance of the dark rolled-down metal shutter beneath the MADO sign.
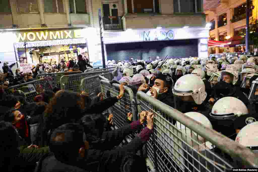
[[198, 39], [107, 44], [108, 60], [187, 58], [198, 56]]

